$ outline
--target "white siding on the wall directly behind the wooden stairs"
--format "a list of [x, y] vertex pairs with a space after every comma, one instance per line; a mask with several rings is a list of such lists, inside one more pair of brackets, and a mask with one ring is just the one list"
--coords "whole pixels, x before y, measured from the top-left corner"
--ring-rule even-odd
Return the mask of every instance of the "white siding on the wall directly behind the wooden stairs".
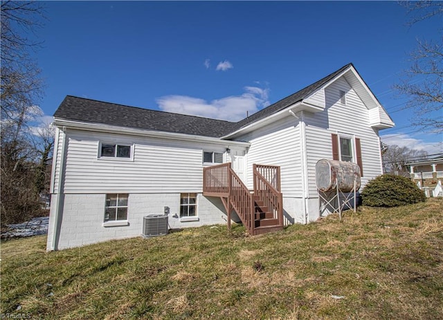
[[247, 163], [248, 188], [253, 188], [253, 164], [267, 164], [280, 166], [284, 197], [302, 195], [300, 129], [296, 118], [288, 114], [287, 118], [240, 136], [239, 140], [251, 142]]

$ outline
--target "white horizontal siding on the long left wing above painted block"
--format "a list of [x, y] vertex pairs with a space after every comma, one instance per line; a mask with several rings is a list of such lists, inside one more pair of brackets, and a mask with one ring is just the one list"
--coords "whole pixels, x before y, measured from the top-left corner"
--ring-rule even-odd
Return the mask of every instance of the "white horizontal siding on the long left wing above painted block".
[[[202, 149], [226, 148], [74, 130], [69, 130], [68, 138], [64, 193], [199, 193]], [[100, 141], [134, 144], [134, 161], [98, 159]]]

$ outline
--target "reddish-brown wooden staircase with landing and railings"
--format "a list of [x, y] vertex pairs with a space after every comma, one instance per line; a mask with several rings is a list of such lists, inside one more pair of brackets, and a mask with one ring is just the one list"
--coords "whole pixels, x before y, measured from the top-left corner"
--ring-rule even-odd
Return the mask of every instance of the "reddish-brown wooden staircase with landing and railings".
[[203, 194], [220, 197], [228, 215], [235, 211], [251, 235], [283, 229], [283, 198], [280, 167], [253, 166], [254, 190], [248, 190], [231, 163], [204, 168]]

